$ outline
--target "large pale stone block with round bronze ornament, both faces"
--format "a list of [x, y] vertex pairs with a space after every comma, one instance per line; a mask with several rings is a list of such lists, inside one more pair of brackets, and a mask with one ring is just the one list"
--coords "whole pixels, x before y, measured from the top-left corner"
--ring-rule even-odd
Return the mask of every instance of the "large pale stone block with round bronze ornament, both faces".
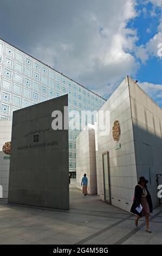
[[107, 110], [110, 132], [103, 136], [97, 130], [98, 194], [101, 200], [130, 211], [134, 187], [145, 176], [155, 208], [157, 176], [162, 174], [162, 109], [126, 77], [102, 106], [101, 111]]

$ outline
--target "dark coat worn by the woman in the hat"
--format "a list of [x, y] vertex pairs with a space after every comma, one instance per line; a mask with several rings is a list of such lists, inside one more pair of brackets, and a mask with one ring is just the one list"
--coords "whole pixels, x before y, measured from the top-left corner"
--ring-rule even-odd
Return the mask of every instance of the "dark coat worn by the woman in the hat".
[[[152, 212], [152, 199], [150, 196], [150, 193], [148, 192], [147, 186], [145, 185], [145, 189], [147, 191], [147, 203], [150, 209], [150, 212]], [[135, 210], [140, 204], [141, 204], [141, 199], [142, 199], [142, 193], [143, 190], [139, 185], [135, 186], [135, 191], [134, 191], [134, 201], [132, 204], [132, 208], [131, 208], [131, 212], [132, 214], [138, 215], [138, 216], [142, 216], [142, 211], [139, 213], [137, 210]]]

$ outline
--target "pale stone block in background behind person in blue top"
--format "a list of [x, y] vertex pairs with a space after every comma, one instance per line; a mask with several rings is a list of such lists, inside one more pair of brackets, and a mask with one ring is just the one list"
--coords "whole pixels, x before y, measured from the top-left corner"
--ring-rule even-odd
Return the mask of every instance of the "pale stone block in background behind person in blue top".
[[84, 174], [88, 178], [88, 194], [97, 193], [95, 131], [83, 130], [76, 138], [76, 187], [82, 189], [81, 180]]

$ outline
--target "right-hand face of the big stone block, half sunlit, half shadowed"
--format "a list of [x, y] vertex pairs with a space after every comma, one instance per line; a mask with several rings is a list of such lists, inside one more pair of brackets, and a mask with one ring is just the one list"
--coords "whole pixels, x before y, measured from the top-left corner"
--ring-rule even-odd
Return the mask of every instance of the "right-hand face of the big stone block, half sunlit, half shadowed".
[[137, 176], [149, 181], [153, 206], [159, 204], [156, 174], [162, 174], [162, 109], [129, 78]]

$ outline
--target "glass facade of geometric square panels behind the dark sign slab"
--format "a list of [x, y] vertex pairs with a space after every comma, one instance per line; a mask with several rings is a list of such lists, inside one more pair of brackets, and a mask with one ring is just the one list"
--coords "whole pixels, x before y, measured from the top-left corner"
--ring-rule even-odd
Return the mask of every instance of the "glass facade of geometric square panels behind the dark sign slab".
[[[3, 40], [0, 40], [0, 88], [0, 120], [11, 120], [12, 112], [17, 109], [64, 94], [68, 94], [69, 113], [98, 111], [105, 103], [102, 97]], [[69, 114], [69, 121], [72, 118]], [[85, 117], [83, 121], [94, 123], [92, 119]], [[81, 128], [72, 130], [69, 126], [70, 172], [76, 170], [75, 139], [80, 131]]]

